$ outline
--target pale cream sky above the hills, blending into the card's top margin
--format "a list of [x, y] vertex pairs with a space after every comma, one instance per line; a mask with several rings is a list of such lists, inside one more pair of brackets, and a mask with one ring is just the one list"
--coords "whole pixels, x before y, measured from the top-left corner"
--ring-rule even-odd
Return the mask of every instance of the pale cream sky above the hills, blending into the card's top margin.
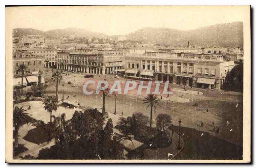
[[243, 21], [240, 6], [53, 6], [10, 7], [6, 17], [14, 28], [42, 31], [68, 27], [107, 35], [125, 35], [143, 27], [190, 30], [219, 23]]

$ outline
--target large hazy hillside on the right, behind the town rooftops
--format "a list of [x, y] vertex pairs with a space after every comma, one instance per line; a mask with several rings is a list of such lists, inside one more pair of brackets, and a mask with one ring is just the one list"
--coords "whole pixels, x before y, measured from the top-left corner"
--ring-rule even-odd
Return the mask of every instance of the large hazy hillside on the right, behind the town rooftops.
[[169, 28], [146, 27], [126, 35], [127, 40], [186, 46], [243, 46], [243, 22], [200, 27], [180, 31]]

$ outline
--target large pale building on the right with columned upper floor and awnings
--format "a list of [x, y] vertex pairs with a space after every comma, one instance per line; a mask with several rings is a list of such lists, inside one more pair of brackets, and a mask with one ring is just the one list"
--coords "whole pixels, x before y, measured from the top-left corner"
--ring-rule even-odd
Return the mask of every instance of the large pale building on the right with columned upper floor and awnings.
[[202, 53], [145, 52], [125, 56], [125, 77], [221, 89], [234, 61]]

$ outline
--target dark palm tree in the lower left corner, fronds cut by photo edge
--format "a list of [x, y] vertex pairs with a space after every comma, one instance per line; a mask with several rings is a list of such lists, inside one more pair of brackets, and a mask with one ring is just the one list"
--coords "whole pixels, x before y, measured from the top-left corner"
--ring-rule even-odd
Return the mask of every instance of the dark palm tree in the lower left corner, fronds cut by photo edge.
[[15, 106], [12, 113], [13, 113], [13, 120], [12, 120], [12, 126], [14, 129], [14, 148], [18, 148], [18, 136], [19, 136], [19, 128], [22, 126], [23, 121], [25, 121], [28, 124], [28, 120], [26, 118], [28, 113], [25, 113], [25, 111], [22, 107]]

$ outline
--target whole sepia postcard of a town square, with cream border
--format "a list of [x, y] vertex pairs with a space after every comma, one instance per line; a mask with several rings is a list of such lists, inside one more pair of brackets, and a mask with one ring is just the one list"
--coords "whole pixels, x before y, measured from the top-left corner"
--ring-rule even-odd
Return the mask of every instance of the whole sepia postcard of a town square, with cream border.
[[6, 6], [6, 162], [251, 162], [250, 6]]

